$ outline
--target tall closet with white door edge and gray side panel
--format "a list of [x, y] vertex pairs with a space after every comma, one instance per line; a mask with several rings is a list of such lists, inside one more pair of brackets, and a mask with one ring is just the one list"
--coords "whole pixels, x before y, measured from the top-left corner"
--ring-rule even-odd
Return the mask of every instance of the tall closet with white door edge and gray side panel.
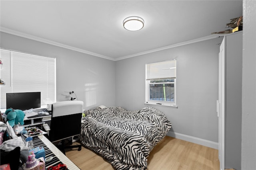
[[241, 169], [242, 31], [225, 35], [219, 53], [220, 170]]

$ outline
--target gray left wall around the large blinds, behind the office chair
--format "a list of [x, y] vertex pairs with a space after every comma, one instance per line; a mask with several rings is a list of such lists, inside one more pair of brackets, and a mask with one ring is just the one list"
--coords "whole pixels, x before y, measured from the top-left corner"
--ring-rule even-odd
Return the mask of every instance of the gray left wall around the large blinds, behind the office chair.
[[[1, 32], [0, 47], [56, 58], [56, 100], [74, 91], [84, 109], [115, 105], [115, 62]], [[26, 80], [24, 80], [26, 81]]]

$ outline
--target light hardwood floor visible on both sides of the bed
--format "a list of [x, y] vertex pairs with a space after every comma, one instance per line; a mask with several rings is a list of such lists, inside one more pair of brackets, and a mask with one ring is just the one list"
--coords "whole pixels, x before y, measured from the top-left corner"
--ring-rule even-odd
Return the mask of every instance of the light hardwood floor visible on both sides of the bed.
[[[76, 145], [76, 144], [75, 144]], [[82, 147], [66, 150], [81, 170], [114, 170], [101, 156]], [[148, 156], [148, 170], [219, 170], [218, 150], [172, 137], [164, 137]]]

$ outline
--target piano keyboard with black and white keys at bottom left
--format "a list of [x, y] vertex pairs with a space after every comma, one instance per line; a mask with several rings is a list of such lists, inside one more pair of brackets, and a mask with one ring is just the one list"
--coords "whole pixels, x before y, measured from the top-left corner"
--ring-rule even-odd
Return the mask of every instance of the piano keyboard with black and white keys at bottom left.
[[[62, 163], [67, 166], [66, 170], [80, 170], [66, 155], [64, 155], [56, 146], [54, 146], [44, 135], [33, 137], [34, 147], [44, 147], [45, 158], [52, 156], [52, 160], [45, 162], [45, 168], [57, 166]], [[63, 167], [62, 167], [63, 168]], [[65, 170], [65, 168], [60, 170]]]

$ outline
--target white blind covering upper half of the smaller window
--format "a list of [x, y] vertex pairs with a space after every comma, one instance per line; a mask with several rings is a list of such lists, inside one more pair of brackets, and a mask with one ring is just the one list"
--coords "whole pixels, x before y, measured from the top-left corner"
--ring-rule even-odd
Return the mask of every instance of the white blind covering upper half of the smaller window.
[[176, 60], [146, 64], [146, 80], [176, 78]]

